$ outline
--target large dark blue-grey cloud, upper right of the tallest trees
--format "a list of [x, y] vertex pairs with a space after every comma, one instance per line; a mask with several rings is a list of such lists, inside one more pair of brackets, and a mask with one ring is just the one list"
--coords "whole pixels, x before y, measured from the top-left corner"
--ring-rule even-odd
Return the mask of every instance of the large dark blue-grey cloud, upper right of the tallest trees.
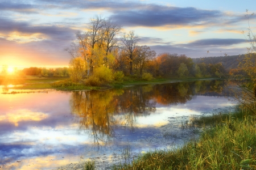
[[[199, 10], [193, 7], [145, 5], [143, 10], [118, 11], [111, 16], [125, 26], [156, 27], [163, 25], [204, 25], [221, 18], [217, 10]], [[214, 20], [214, 21], [213, 21]]]

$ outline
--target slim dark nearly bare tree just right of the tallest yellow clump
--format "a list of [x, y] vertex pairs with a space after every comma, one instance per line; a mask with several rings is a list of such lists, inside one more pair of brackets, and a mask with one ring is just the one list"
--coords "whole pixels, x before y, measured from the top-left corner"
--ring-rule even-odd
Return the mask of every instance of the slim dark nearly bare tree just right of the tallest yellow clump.
[[123, 49], [126, 52], [126, 57], [129, 59], [130, 63], [130, 75], [133, 75], [133, 59], [134, 59], [134, 50], [139, 41], [139, 37], [134, 35], [134, 31], [125, 33], [121, 40], [123, 42]]

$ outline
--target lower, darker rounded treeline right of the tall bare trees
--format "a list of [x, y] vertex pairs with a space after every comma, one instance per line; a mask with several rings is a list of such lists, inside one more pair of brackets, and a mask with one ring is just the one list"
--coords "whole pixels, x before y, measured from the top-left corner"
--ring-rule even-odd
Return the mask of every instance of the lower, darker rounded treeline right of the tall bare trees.
[[177, 54], [159, 54], [154, 60], [148, 63], [148, 73], [154, 76], [167, 78], [209, 78], [221, 77], [226, 74], [226, 70], [220, 64], [206, 64], [193, 62], [192, 58]]

